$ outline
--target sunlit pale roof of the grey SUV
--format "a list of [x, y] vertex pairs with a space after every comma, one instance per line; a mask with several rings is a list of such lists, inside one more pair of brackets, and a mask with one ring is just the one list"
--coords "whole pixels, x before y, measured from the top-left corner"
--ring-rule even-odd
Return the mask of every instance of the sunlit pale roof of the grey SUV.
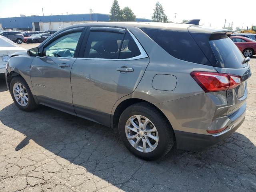
[[[214, 33], [214, 32], [231, 32], [226, 29], [215, 29], [205, 26], [198, 26], [193, 24], [177, 24], [177, 23], [160, 23], [160, 22], [90, 22], [90, 23], [82, 23], [75, 24], [72, 26], [68, 26], [67, 28], [74, 28], [79, 26], [116, 26], [116, 27], [138, 27], [138, 28], [157, 28], [157, 29], [165, 29], [165, 30], [177, 30], [188, 32], [188, 28], [190, 32], [201, 32], [201, 33]], [[61, 30], [62, 31], [62, 30]]]

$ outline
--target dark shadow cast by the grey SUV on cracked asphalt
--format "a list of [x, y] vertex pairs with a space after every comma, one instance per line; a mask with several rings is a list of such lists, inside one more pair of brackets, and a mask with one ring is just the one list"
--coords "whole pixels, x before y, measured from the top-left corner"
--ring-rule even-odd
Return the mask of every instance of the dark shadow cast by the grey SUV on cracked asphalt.
[[36, 143], [124, 191], [256, 191], [256, 147], [237, 132], [208, 150], [173, 149], [148, 162], [128, 152], [110, 128], [45, 106], [23, 112], [12, 103], [0, 121], [24, 134], [16, 138], [17, 152], [36, 150]]

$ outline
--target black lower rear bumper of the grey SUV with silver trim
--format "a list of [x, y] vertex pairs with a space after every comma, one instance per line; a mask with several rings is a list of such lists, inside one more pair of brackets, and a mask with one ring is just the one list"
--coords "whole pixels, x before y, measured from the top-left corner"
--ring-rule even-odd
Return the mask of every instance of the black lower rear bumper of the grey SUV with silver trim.
[[177, 148], [189, 151], [205, 150], [217, 144], [235, 132], [244, 122], [245, 112], [226, 130], [215, 135], [204, 135], [174, 130]]

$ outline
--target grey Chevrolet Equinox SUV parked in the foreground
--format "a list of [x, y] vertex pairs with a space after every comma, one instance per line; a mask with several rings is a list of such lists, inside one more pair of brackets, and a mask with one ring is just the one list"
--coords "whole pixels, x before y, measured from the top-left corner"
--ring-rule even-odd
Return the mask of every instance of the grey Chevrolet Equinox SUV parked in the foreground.
[[21, 110], [42, 104], [111, 127], [140, 158], [164, 156], [175, 142], [203, 150], [245, 118], [250, 58], [230, 34], [194, 24], [76, 24], [13, 55], [6, 82]]

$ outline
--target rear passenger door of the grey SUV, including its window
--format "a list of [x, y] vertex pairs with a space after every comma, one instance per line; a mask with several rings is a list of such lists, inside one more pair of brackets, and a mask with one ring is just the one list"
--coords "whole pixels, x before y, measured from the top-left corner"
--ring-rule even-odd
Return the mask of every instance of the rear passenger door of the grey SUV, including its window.
[[149, 63], [136, 38], [122, 28], [91, 27], [83, 58], [71, 71], [74, 110], [106, 126], [116, 101], [133, 92]]

